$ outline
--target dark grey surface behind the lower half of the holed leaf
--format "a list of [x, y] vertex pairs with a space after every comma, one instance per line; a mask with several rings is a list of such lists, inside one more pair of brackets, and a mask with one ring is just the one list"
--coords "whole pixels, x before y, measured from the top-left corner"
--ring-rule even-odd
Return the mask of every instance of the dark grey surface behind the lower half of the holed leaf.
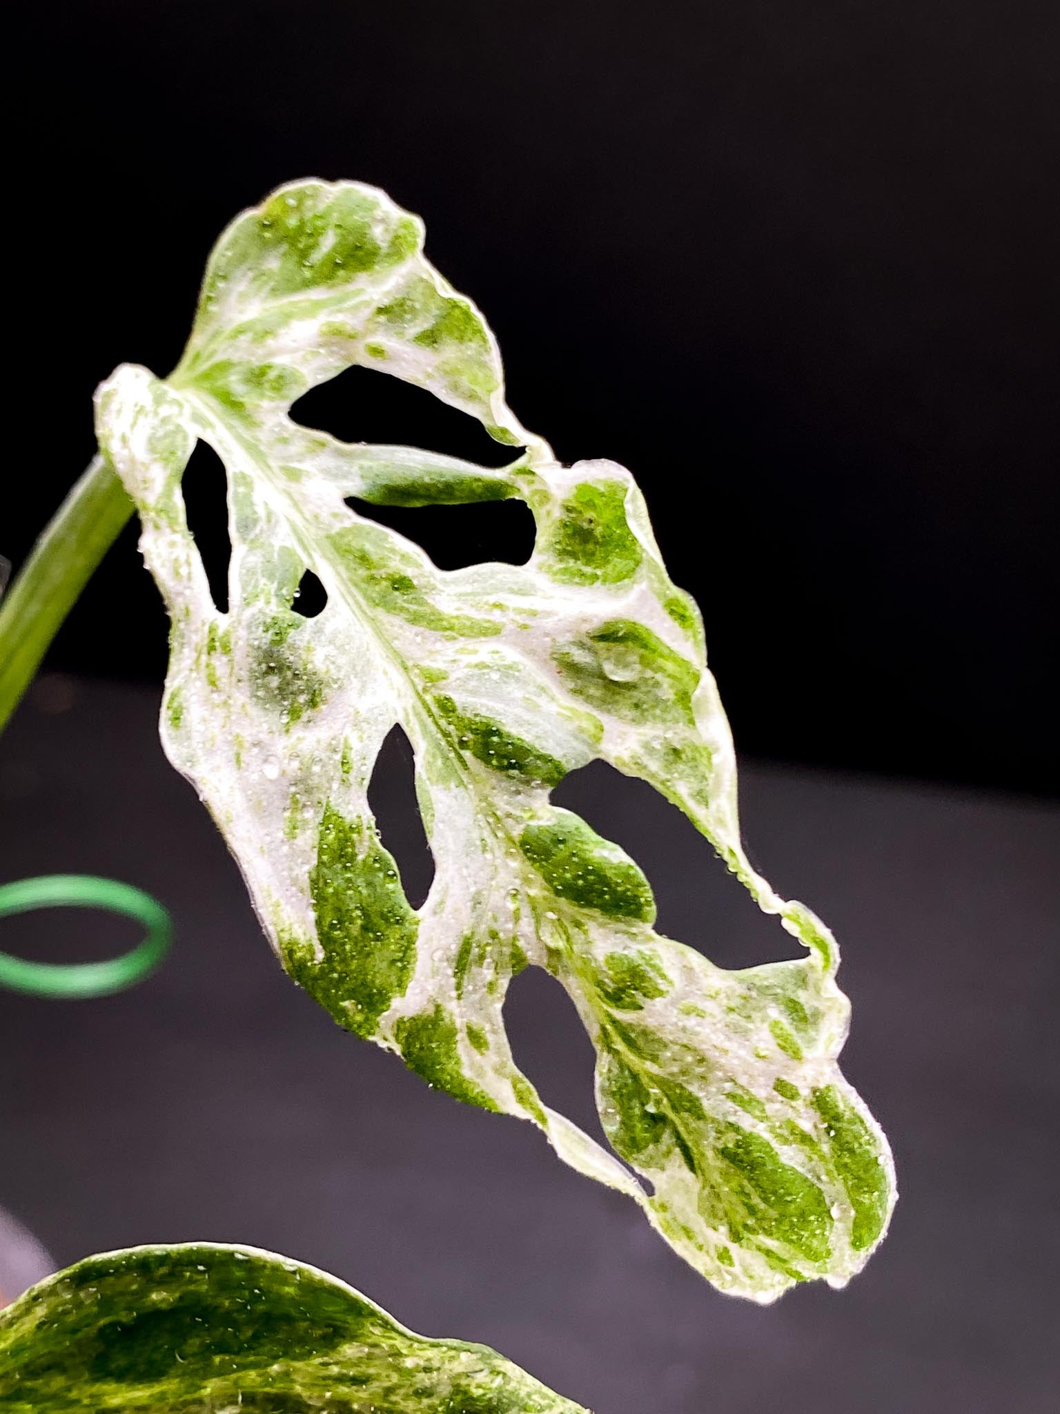
[[[59, 1261], [151, 1240], [273, 1247], [416, 1329], [497, 1346], [598, 1414], [1054, 1407], [1056, 810], [745, 772], [752, 854], [845, 945], [847, 1072], [903, 1191], [845, 1291], [762, 1309], [704, 1285], [530, 1126], [434, 1094], [287, 981], [154, 713], [147, 693], [51, 682], [0, 741], [4, 878], [103, 872], [177, 916], [170, 962], [134, 993], [0, 993], [0, 1198]], [[725, 964], [786, 953], [652, 792], [591, 768], [563, 797], [639, 854], [666, 930]], [[131, 942], [89, 915], [0, 929], [52, 956]], [[571, 1007], [540, 976], [513, 991], [519, 1058], [589, 1123]]]

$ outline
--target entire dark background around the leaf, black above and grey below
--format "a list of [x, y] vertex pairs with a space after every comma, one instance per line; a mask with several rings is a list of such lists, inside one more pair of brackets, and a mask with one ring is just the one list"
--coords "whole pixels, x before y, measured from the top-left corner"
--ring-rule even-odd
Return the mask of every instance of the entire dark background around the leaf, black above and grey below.
[[[123, 878], [175, 919], [130, 993], [0, 993], [0, 1203], [58, 1263], [259, 1243], [598, 1414], [1052, 1414], [1060, 817], [1011, 792], [1047, 790], [1057, 764], [1056, 13], [21, 7], [0, 551], [24, 556], [92, 454], [96, 382], [177, 361], [240, 206], [317, 174], [418, 211], [497, 331], [519, 416], [567, 461], [633, 469], [702, 604], [752, 758], [748, 847], [844, 945], [844, 1069], [902, 1192], [847, 1291], [762, 1309], [712, 1291], [529, 1126], [341, 1032], [280, 971], [163, 759], [165, 622], [130, 527], [55, 646], [62, 672], [0, 740], [0, 875]], [[365, 370], [300, 416], [497, 457]], [[218, 468], [188, 482], [216, 568]], [[489, 520], [514, 510], [407, 516], [454, 563], [524, 550], [524, 522]], [[373, 781], [407, 884], [410, 771], [391, 751]], [[642, 783], [594, 764], [557, 799], [640, 860], [664, 932], [725, 967], [791, 947]], [[72, 960], [133, 936], [41, 913], [4, 919], [0, 946]], [[595, 1128], [591, 1048], [558, 988], [529, 970], [506, 1019], [546, 1100]]]

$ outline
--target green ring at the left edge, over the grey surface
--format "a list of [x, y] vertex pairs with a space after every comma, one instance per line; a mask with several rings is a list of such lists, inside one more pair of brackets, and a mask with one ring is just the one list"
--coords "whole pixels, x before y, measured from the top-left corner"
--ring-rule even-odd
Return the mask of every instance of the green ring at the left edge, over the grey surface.
[[117, 880], [93, 874], [42, 874], [0, 887], [0, 918], [38, 908], [100, 908], [134, 918], [147, 937], [130, 953], [102, 963], [34, 963], [0, 952], [0, 987], [31, 997], [107, 997], [154, 971], [172, 937], [172, 919], [163, 905]]

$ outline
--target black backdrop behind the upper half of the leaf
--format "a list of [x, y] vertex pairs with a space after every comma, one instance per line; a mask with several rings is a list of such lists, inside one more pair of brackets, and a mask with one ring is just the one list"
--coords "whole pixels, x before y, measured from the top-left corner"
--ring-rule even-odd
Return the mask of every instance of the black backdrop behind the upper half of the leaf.
[[[428, 253], [497, 331], [523, 420], [564, 460], [637, 475], [704, 608], [738, 745], [1047, 788], [1054, 16], [25, 7], [0, 550], [25, 554], [90, 455], [95, 383], [175, 362], [222, 225], [281, 181], [356, 177], [424, 215]], [[384, 382], [346, 376], [307, 417], [483, 451]], [[472, 557], [482, 523], [444, 515], [432, 533]], [[161, 676], [133, 546], [130, 529], [55, 666]]]

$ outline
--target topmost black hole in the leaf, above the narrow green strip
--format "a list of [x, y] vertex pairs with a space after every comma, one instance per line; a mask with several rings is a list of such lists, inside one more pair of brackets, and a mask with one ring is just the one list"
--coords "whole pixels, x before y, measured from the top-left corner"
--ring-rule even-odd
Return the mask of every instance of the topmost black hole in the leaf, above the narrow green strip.
[[311, 387], [293, 404], [291, 419], [341, 441], [425, 447], [481, 467], [505, 467], [519, 455], [469, 413], [373, 368], [348, 368]]

